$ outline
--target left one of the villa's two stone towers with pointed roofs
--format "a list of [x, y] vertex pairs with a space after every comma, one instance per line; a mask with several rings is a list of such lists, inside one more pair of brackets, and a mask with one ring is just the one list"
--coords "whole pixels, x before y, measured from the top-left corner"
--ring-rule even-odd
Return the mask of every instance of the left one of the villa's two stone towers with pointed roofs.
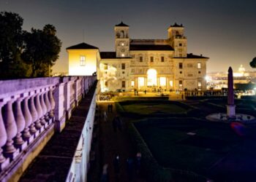
[[116, 58], [129, 57], [129, 26], [123, 22], [115, 26]]

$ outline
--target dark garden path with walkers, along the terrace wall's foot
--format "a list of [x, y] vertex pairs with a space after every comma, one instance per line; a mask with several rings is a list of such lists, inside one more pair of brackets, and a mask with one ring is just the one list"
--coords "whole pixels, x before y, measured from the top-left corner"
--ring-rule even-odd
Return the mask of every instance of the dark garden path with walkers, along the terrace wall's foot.
[[[102, 167], [108, 164], [109, 182], [126, 182], [129, 181], [127, 174], [127, 159], [128, 157], [135, 158], [137, 151], [129, 138], [127, 130], [127, 121], [121, 117], [123, 121], [122, 130], [113, 130], [113, 118], [116, 116], [115, 103], [113, 104], [113, 112], [108, 112], [108, 104], [111, 102], [99, 103], [99, 118], [97, 119], [98, 125], [95, 128], [97, 139], [94, 138], [92, 150], [95, 152], [95, 161], [91, 164], [89, 171], [89, 182], [100, 181], [102, 175]], [[104, 112], [107, 113], [107, 118], [104, 117]], [[120, 157], [120, 174], [116, 175], [113, 167], [113, 159], [115, 154]], [[135, 169], [133, 170], [133, 178], [130, 181], [143, 182], [145, 181], [141, 176], [136, 175]]]

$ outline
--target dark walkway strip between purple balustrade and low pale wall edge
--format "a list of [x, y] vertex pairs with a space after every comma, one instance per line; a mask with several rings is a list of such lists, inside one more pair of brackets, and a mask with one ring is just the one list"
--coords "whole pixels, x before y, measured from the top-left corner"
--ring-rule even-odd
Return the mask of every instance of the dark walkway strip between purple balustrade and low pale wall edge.
[[66, 181], [95, 88], [96, 84], [72, 112], [72, 117], [66, 123], [64, 130], [53, 135], [23, 173], [20, 181]]

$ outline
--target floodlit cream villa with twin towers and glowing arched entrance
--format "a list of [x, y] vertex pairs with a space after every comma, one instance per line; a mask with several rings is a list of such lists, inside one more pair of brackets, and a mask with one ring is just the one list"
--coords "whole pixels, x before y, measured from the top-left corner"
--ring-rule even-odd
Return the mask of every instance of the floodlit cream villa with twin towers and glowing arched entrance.
[[102, 92], [135, 89], [169, 91], [185, 88], [206, 90], [208, 58], [187, 54], [187, 37], [184, 36], [183, 25], [170, 25], [167, 39], [130, 39], [129, 26], [122, 22], [115, 26], [114, 31], [116, 51], [99, 52], [96, 47], [94, 60], [88, 58], [86, 49], [76, 52], [74, 58], [70, 54], [75, 52], [70, 51], [70, 47], [67, 48], [69, 75], [78, 73], [78, 62], [84, 56], [85, 68], [86, 61], [97, 64], [97, 79]]

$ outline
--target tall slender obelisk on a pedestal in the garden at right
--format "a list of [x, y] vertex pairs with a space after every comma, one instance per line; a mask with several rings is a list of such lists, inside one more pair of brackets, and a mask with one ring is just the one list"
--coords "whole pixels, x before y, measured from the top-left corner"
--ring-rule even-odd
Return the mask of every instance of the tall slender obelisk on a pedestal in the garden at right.
[[233, 70], [228, 68], [227, 75], [227, 117], [236, 117], [236, 105], [234, 104]]

